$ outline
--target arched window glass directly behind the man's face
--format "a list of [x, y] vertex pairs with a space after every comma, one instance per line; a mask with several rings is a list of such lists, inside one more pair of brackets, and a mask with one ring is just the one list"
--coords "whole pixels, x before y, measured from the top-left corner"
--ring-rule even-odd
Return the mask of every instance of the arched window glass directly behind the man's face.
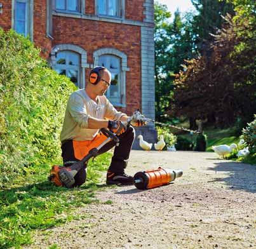
[[111, 100], [112, 104], [117, 105], [122, 102], [121, 89], [121, 71], [120, 58], [114, 55], [102, 55], [98, 59], [99, 65], [107, 67], [111, 72], [111, 86], [107, 90], [106, 96]]

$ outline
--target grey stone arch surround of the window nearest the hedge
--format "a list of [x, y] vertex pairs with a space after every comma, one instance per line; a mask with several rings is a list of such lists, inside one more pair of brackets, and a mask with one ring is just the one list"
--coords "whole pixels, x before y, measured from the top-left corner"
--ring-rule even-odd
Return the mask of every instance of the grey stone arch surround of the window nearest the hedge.
[[58, 51], [71, 51], [78, 53], [80, 55], [80, 74], [79, 74], [79, 79], [80, 82], [78, 82], [78, 87], [79, 88], [84, 88], [85, 87], [85, 69], [90, 68], [90, 64], [87, 64], [87, 53], [86, 51], [76, 45], [73, 44], [58, 44], [51, 48], [51, 58], [50, 58], [50, 65], [55, 70], [57, 61], [57, 53]]

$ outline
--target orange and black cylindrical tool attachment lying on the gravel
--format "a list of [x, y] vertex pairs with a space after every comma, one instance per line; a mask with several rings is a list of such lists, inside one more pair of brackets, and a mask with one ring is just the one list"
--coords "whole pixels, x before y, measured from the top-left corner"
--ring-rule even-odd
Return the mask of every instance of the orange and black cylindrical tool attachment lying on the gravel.
[[175, 178], [182, 177], [182, 170], [172, 170], [159, 167], [156, 170], [138, 172], [134, 175], [134, 184], [137, 189], [152, 189], [173, 182]]

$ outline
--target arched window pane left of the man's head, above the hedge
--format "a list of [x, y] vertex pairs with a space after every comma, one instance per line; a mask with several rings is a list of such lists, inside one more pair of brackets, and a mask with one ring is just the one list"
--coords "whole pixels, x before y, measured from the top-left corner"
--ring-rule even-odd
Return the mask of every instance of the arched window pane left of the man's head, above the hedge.
[[59, 51], [56, 56], [55, 71], [65, 75], [79, 86], [80, 82], [80, 56], [72, 51]]

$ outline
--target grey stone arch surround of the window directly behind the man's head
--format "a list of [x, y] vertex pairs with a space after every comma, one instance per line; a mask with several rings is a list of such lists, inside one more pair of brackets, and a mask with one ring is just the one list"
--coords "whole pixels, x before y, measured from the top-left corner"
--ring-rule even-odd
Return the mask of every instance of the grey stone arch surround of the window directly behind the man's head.
[[[93, 53], [94, 65], [99, 65], [99, 58], [102, 55], [114, 55], [120, 59], [120, 102], [113, 102], [116, 107], [126, 107], [126, 71], [130, 71], [127, 67], [127, 56], [125, 53], [114, 48], [102, 48]], [[109, 99], [111, 100], [111, 98]]]

